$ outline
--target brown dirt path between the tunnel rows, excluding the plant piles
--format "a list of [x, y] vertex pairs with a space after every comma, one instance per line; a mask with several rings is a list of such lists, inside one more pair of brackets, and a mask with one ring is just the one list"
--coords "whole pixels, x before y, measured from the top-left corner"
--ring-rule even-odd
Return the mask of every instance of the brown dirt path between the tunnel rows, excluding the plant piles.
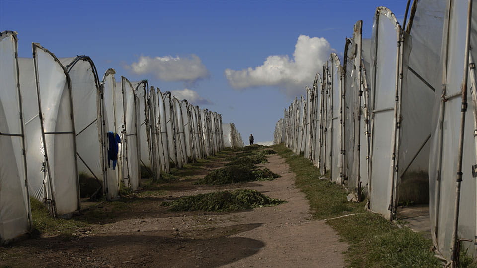
[[[229, 151], [228, 154], [237, 152]], [[348, 245], [313, 220], [285, 159], [267, 156], [275, 180], [221, 186], [195, 182], [227, 154], [195, 163], [143, 189], [98, 202], [36, 238], [1, 248], [1, 267], [344, 267]], [[173, 178], [172, 178], [173, 177]], [[161, 203], [218, 190], [253, 189], [287, 201], [234, 212], [174, 212]]]

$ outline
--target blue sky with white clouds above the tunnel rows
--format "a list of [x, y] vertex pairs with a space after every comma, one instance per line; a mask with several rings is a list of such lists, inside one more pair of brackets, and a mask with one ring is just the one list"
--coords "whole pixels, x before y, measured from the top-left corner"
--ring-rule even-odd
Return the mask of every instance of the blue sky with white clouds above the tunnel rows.
[[376, 7], [402, 23], [406, 2], [1, 0], [0, 30], [18, 32], [20, 57], [32, 42], [57, 57], [88, 55], [100, 78], [114, 68], [117, 79], [148, 79], [221, 113], [244, 141], [266, 142], [321, 62], [342, 55], [354, 23], [369, 38]]

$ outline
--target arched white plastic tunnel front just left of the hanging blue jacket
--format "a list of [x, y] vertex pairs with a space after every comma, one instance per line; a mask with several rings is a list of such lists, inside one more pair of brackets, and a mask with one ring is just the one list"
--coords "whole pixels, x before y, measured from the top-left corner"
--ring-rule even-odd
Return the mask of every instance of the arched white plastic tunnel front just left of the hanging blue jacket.
[[[109, 188], [107, 148], [103, 98], [99, 78], [91, 58], [77, 56], [60, 58], [71, 79], [73, 117], [76, 130], [76, 154], [79, 176], [95, 178], [102, 184], [102, 192]], [[98, 188], [99, 190], [99, 188]], [[81, 193], [80, 193], [81, 194]], [[82, 195], [82, 197], [87, 197]]]

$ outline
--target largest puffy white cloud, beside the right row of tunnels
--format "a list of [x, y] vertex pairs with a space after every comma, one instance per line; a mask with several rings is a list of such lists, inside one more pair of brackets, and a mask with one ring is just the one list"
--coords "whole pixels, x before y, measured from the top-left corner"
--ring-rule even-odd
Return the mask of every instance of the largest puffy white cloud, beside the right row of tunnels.
[[313, 83], [333, 50], [325, 38], [300, 35], [295, 45], [293, 59], [288, 55], [268, 56], [263, 65], [243, 70], [225, 70], [229, 84], [236, 89], [257, 86], [280, 86], [287, 95], [302, 92], [305, 85]]

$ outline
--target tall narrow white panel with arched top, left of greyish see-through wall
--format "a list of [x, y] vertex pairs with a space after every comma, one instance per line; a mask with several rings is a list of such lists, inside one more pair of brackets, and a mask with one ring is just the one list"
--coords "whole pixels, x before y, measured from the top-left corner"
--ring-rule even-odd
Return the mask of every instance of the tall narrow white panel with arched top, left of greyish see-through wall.
[[396, 112], [401, 27], [394, 14], [378, 7], [373, 24], [371, 57], [371, 173], [368, 185], [369, 209], [391, 218], [394, 154], [396, 141]]

